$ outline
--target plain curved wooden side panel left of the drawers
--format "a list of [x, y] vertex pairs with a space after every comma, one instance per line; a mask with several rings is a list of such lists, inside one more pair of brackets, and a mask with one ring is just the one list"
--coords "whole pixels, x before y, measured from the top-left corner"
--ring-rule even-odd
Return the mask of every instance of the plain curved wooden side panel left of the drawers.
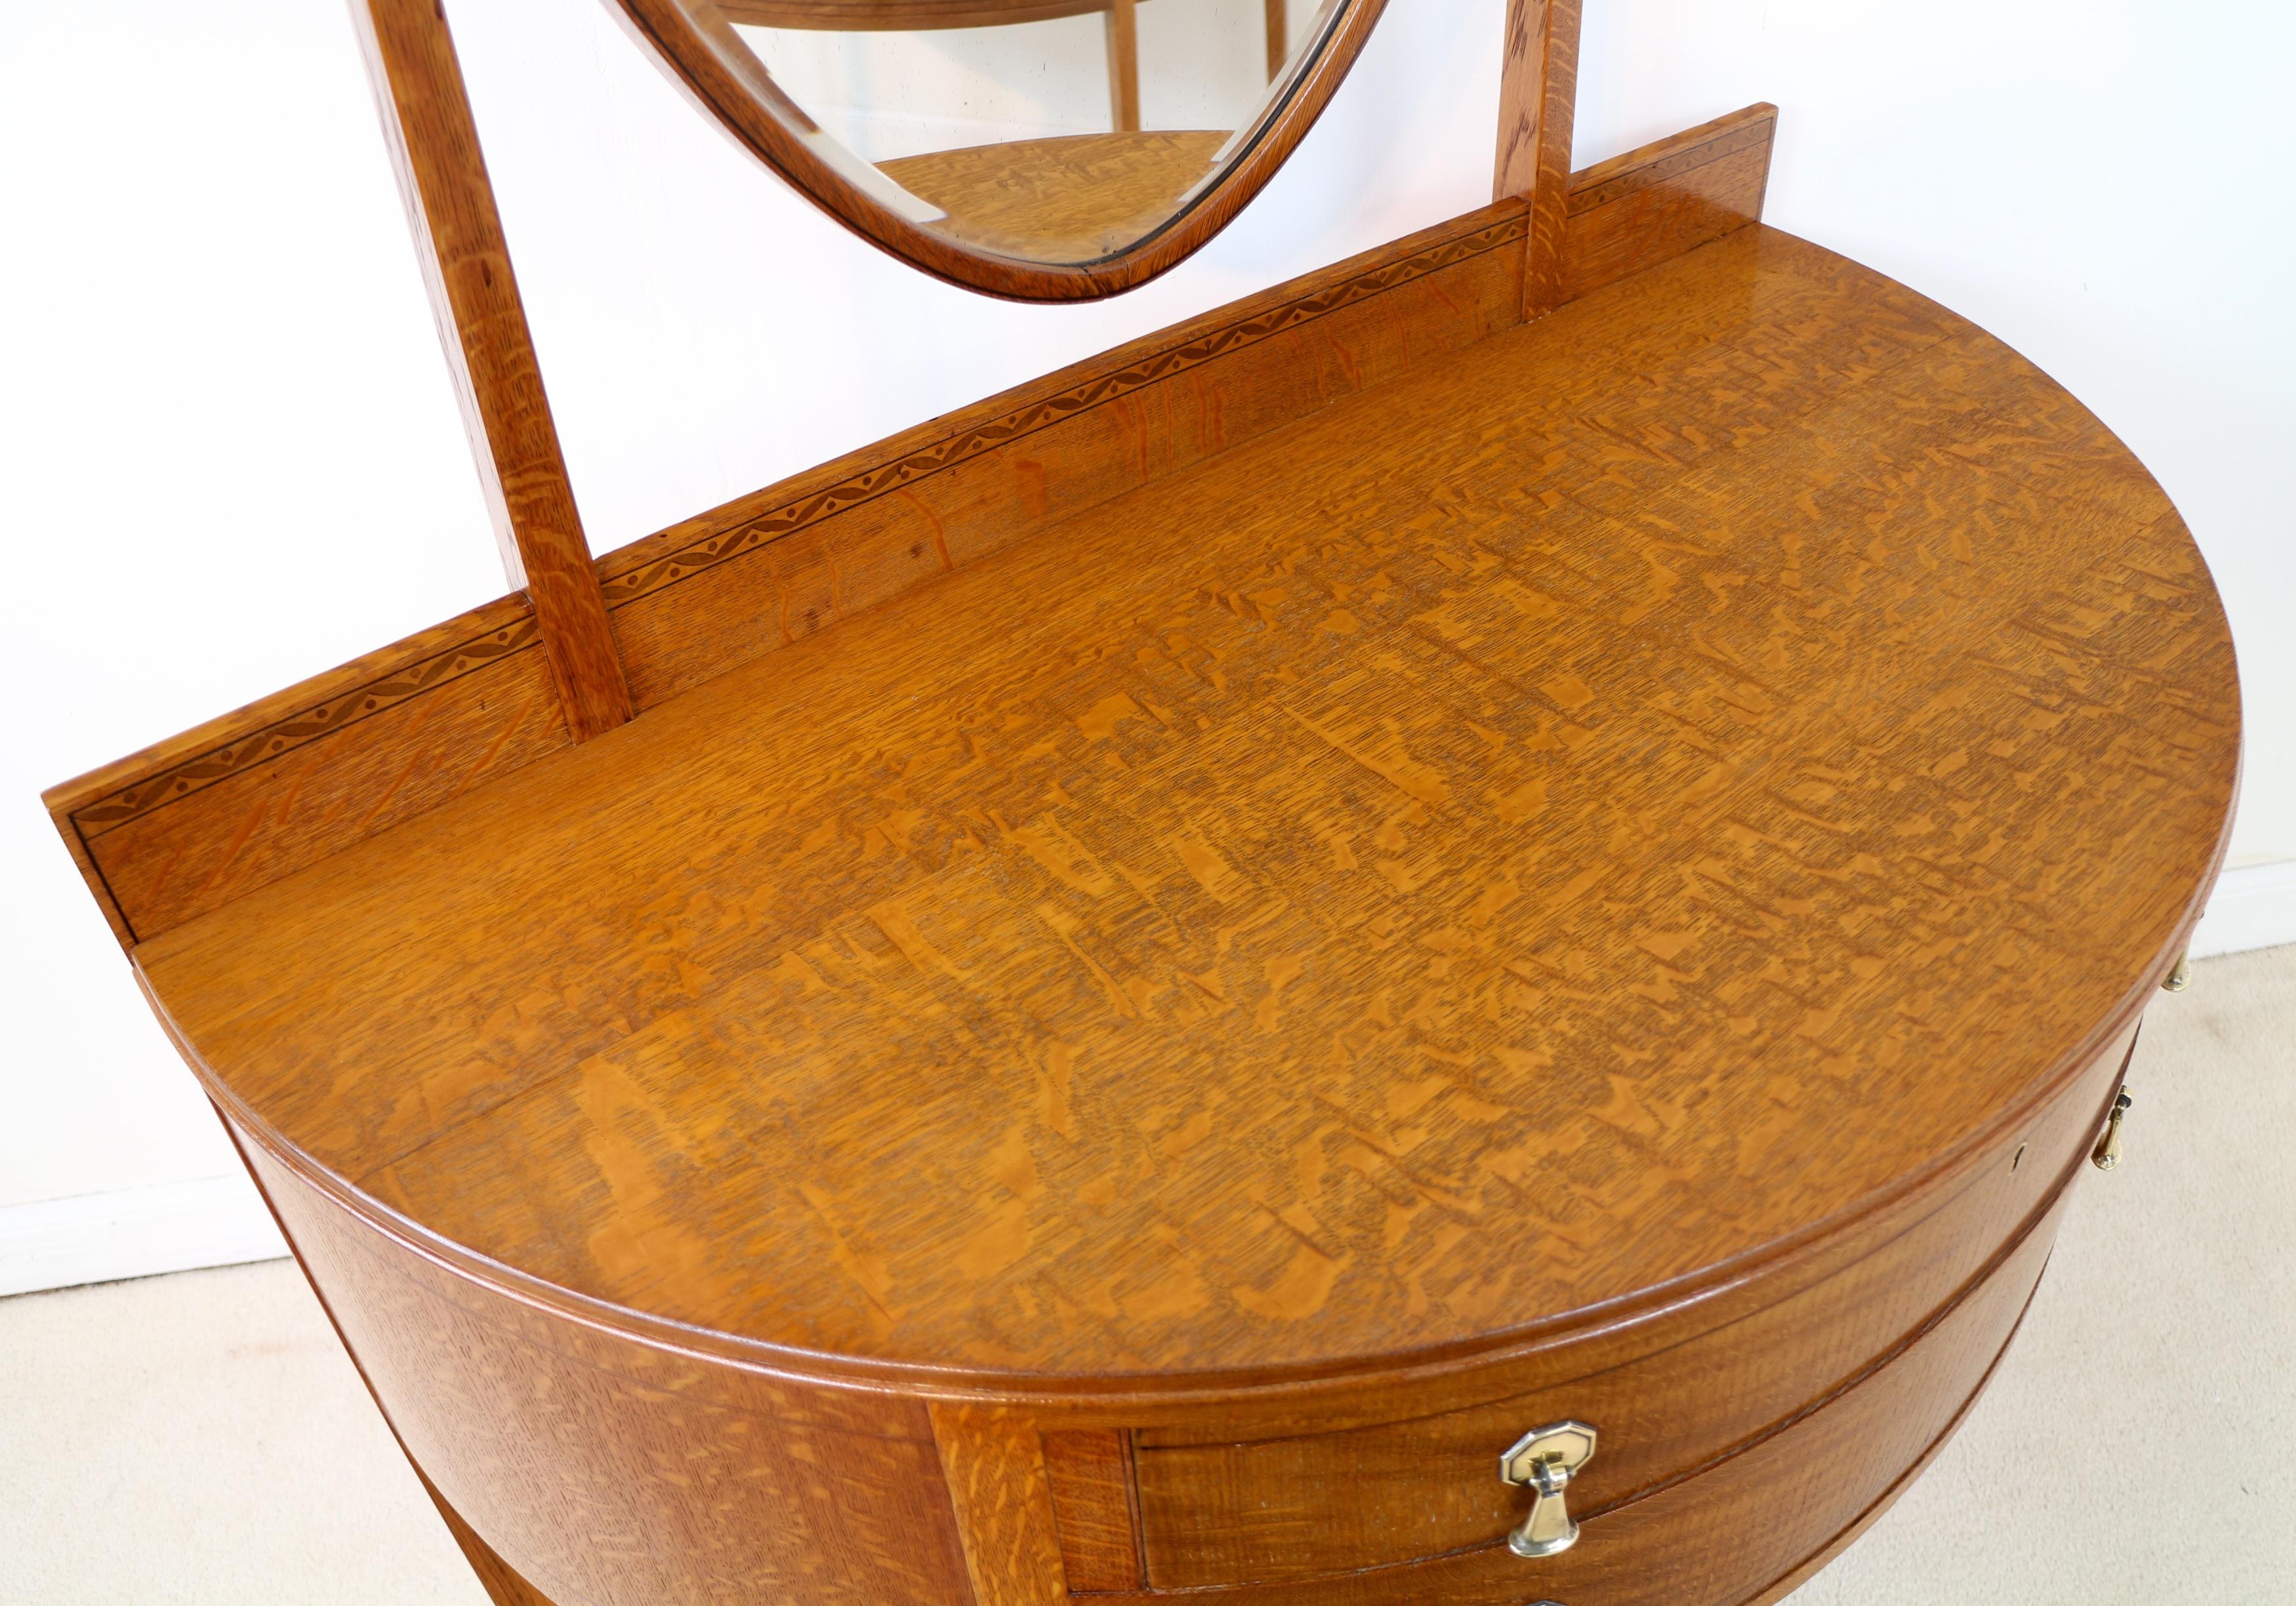
[[918, 1402], [767, 1385], [783, 1408], [744, 1408], [675, 1388], [673, 1356], [664, 1385], [608, 1372], [236, 1135], [409, 1457], [551, 1606], [969, 1599]]

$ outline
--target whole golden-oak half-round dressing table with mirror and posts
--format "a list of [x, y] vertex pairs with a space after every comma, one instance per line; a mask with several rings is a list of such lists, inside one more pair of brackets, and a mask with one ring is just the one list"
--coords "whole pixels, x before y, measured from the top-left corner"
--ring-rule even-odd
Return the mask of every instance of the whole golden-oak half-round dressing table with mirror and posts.
[[[1380, 11], [1233, 5], [1217, 147], [1148, 53], [870, 154], [785, 7], [620, 5], [1022, 299]], [[354, 11], [514, 590], [46, 802], [494, 1601], [1738, 1606], [1919, 1475], [2239, 689], [2080, 402], [1761, 223], [1775, 108], [1570, 172], [1518, 0], [1490, 207], [592, 556], [445, 18]]]

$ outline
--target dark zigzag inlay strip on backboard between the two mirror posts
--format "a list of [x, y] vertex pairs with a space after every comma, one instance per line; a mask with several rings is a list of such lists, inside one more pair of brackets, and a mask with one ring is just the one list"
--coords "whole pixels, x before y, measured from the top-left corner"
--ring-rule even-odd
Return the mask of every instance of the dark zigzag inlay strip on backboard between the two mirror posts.
[[1472, 234], [1460, 234], [1458, 239], [1449, 239], [1440, 246], [1421, 250], [1419, 255], [1389, 262], [1345, 283], [1329, 285], [1297, 301], [1286, 301], [1279, 308], [1270, 308], [1254, 317], [1215, 329], [1185, 345], [1155, 352], [1130, 368], [1097, 375], [1072, 391], [1049, 395], [1040, 402], [1022, 407], [1019, 411], [1006, 414], [1003, 418], [934, 441], [921, 453], [909, 453], [907, 457], [877, 464], [875, 469], [856, 473], [850, 480], [840, 480], [827, 489], [801, 496], [799, 501], [774, 508], [765, 517], [751, 519], [730, 531], [719, 531], [716, 535], [707, 535], [689, 547], [680, 547], [677, 551], [638, 565], [627, 574], [608, 574], [604, 577], [606, 607], [636, 602], [638, 597], [652, 595], [664, 586], [675, 586], [700, 570], [714, 567], [746, 551], [755, 551], [758, 547], [771, 545], [783, 535], [820, 524], [836, 512], [856, 508], [875, 496], [884, 496], [902, 485], [939, 473], [941, 469], [953, 469], [969, 457], [980, 457], [983, 453], [1061, 423], [1075, 414], [1100, 407], [1102, 402], [1111, 402], [1120, 395], [1157, 384], [1159, 379], [1171, 379], [1173, 375], [1210, 363], [1228, 352], [1258, 345], [1261, 340], [1297, 329], [1300, 324], [1311, 324], [1318, 317], [1357, 301], [1366, 301], [1380, 292], [1396, 289], [1398, 285], [1407, 285], [1414, 278], [1453, 267], [1508, 241], [1520, 241], [1525, 227], [1525, 214], [1508, 214], [1506, 218], [1499, 218], [1497, 223]]

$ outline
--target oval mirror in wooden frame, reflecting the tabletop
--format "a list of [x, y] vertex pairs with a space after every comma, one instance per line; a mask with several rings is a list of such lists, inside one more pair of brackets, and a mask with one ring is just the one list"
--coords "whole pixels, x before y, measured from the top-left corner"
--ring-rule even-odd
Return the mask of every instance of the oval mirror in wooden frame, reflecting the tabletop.
[[1270, 179], [1384, 0], [618, 0], [742, 145], [898, 257], [1077, 301]]

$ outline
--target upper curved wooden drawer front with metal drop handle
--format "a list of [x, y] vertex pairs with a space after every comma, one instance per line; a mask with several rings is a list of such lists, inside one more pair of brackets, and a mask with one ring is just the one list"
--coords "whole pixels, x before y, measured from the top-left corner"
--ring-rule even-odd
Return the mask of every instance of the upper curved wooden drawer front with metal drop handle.
[[1958, 1195], [1874, 1254], [1763, 1310], [1591, 1376], [1490, 1404], [1251, 1443], [1137, 1436], [1146, 1583], [1279, 1583], [1490, 1544], [1527, 1496], [1499, 1452], [1577, 1418], [1600, 1429], [1573, 1507], [1600, 1512], [1729, 1454], [1864, 1372], [1956, 1298], [2080, 1163], [2124, 1064], [2101, 1057]]

